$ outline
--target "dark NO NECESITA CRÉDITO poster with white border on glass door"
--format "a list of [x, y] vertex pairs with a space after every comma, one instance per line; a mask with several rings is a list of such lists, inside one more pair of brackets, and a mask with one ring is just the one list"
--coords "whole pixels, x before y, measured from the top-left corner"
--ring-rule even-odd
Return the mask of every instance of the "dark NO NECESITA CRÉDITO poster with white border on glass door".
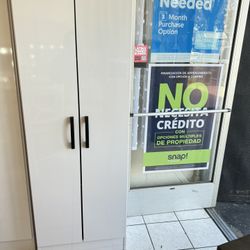
[[[147, 112], [206, 111], [217, 108], [222, 65], [149, 65]], [[214, 114], [146, 118], [145, 171], [207, 169]]]

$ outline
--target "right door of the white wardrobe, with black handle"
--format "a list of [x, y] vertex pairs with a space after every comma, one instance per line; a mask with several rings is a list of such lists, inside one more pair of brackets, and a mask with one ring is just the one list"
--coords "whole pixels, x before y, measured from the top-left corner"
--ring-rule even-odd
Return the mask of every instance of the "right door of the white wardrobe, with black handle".
[[126, 225], [132, 0], [76, 0], [84, 240]]

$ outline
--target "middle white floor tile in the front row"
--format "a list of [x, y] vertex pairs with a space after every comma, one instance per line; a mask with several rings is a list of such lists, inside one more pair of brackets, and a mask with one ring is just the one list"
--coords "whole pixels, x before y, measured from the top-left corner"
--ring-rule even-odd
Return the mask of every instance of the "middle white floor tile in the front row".
[[179, 222], [147, 225], [155, 250], [192, 248]]

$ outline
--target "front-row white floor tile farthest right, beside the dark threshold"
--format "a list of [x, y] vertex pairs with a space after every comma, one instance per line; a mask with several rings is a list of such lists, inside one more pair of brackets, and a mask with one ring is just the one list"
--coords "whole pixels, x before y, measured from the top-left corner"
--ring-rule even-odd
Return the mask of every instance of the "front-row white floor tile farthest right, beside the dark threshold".
[[181, 221], [195, 248], [218, 246], [227, 242], [212, 219]]

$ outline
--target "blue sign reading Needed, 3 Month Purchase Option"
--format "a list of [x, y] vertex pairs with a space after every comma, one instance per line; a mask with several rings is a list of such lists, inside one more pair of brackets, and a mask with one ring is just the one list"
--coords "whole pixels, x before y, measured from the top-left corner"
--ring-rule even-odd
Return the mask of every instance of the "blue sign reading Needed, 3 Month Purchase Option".
[[218, 62], [227, 0], [154, 0], [151, 62]]

